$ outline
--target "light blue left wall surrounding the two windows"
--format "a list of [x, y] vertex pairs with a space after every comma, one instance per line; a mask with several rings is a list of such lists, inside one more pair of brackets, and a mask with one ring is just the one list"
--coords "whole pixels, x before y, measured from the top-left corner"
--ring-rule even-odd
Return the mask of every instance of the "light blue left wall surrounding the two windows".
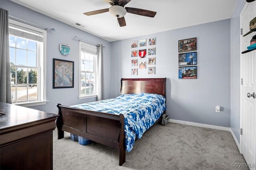
[[[49, 102], [46, 106], [32, 107], [34, 109], [48, 111], [50, 113], [58, 113], [56, 107], [57, 103], [62, 105], [75, 105], [79, 103], [86, 103], [95, 101], [92, 99], [78, 99], [79, 94], [79, 42], [74, 39], [75, 36], [82, 38], [88, 42], [103, 44], [106, 48], [103, 49], [104, 57], [104, 96], [106, 99], [110, 97], [110, 42], [88, 34], [82, 30], [78, 30], [72, 26], [64, 24], [58, 20], [54, 20], [48, 16], [40, 14], [36, 11], [30, 10], [20, 6], [9, 0], [1, 0], [1, 8], [9, 11], [12, 16], [17, 16], [24, 20], [34, 22], [49, 28], [55, 28], [56, 32], [47, 31], [47, 63], [46, 63], [46, 97]], [[60, 43], [70, 44], [70, 55], [61, 55], [59, 51]], [[65, 59], [74, 61], [74, 88], [67, 89], [52, 89], [52, 59]]]

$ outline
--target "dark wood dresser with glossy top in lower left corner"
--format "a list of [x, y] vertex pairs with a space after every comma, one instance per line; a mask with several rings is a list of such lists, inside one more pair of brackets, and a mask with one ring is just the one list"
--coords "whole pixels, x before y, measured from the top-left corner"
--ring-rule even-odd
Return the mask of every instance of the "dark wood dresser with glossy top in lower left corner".
[[58, 115], [0, 102], [0, 169], [52, 168]]

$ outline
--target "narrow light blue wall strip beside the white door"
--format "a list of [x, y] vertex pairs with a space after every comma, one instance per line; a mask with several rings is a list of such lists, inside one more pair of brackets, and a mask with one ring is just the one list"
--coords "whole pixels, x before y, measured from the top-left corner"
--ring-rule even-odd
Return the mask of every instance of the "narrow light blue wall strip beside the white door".
[[240, 13], [246, 1], [238, 0], [230, 20], [230, 127], [240, 142]]

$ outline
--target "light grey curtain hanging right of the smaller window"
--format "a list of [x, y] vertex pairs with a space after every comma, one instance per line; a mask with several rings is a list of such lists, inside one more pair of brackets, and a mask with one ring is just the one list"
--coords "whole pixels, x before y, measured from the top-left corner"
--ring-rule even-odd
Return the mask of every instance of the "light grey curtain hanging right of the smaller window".
[[103, 78], [103, 53], [102, 53], [102, 44], [97, 46], [97, 92], [98, 97], [97, 101], [104, 99], [104, 78]]

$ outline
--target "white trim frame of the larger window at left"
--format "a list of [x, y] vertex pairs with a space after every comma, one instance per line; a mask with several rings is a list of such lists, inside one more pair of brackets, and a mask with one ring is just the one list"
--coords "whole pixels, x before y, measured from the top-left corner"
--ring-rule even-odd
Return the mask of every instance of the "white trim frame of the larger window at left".
[[30, 30], [35, 30], [37, 32], [43, 33], [43, 45], [42, 47], [39, 47], [38, 53], [40, 53], [40, 57], [38, 57], [38, 66], [40, 69], [38, 69], [38, 100], [37, 101], [24, 101], [24, 102], [18, 102], [18, 103], [13, 103], [14, 105], [20, 105], [24, 107], [31, 107], [31, 106], [37, 106], [37, 105], [45, 105], [47, 100], [46, 100], [46, 40], [47, 40], [47, 31], [42, 30], [40, 28], [36, 28], [33, 26], [30, 26], [28, 24], [24, 24], [22, 22], [18, 22], [15, 20], [9, 19], [9, 23], [15, 24], [24, 28], [28, 28]]

